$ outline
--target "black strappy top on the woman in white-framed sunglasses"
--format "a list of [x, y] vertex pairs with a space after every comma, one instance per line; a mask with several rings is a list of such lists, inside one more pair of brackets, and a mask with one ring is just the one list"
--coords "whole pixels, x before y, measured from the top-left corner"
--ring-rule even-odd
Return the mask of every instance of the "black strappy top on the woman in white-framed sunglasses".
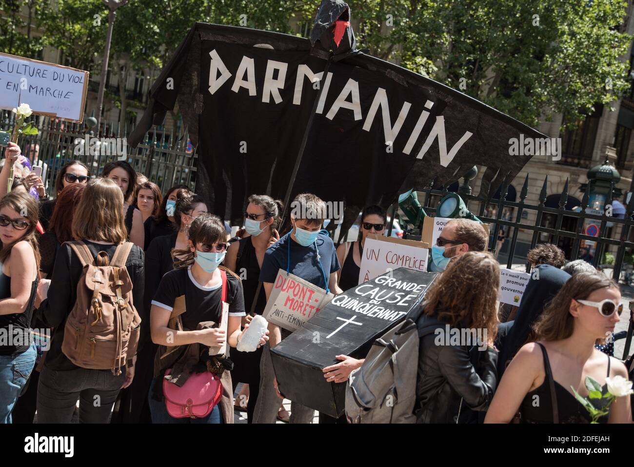
[[[550, 390], [551, 381], [554, 386], [555, 398], [557, 399], [557, 412], [559, 416], [559, 423], [590, 423], [592, 417], [588, 411], [581, 405], [574, 395], [566, 390], [564, 386], [560, 385], [553, 379], [552, 370], [550, 369], [550, 360], [548, 360], [548, 352], [546, 348], [538, 343], [541, 348], [541, 353], [544, 359], [544, 370], [546, 376], [541, 386], [530, 391], [522, 400], [520, 411], [522, 414], [522, 421], [525, 423], [553, 423], [553, 401]], [[610, 357], [607, 357], [607, 376], [610, 376]], [[606, 385], [603, 385], [605, 390]], [[538, 396], [536, 398], [535, 396]], [[534, 404], [534, 401], [539, 401], [539, 404]], [[601, 404], [600, 401], [592, 399], [595, 406], [600, 407], [597, 404]], [[607, 423], [609, 414], [602, 416], [598, 419], [598, 423]]]

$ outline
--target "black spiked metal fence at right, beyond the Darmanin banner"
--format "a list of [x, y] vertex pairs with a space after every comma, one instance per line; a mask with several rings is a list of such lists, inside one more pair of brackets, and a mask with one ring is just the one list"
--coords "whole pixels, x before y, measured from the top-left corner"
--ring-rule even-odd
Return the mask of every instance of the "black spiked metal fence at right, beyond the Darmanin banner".
[[[527, 204], [526, 197], [528, 194], [528, 180], [529, 175], [526, 175], [526, 179], [524, 180], [524, 185], [522, 186], [522, 190], [519, 195], [519, 202], [507, 201], [507, 191], [508, 186], [512, 182], [512, 180], [505, 180], [500, 189], [500, 198], [499, 199], [491, 199], [489, 197], [489, 190], [481, 190], [479, 195], [472, 195], [471, 188], [469, 187], [469, 180], [465, 179], [465, 183], [460, 186], [457, 190], [457, 193], [462, 197], [463, 201], [467, 205], [467, 209], [474, 213], [482, 222], [490, 224], [490, 234], [491, 239], [489, 240], [489, 251], [491, 253], [495, 253], [496, 251], [496, 239], [498, 238], [498, 233], [500, 228], [505, 229], [505, 236], [507, 240], [510, 240], [510, 246], [505, 248], [505, 253], [507, 253], [507, 268], [511, 268], [512, 264], [515, 262], [526, 262], [526, 258], [521, 258], [521, 261], [517, 261], [515, 258], [515, 251], [517, 248], [517, 240], [518, 235], [521, 230], [525, 230], [528, 232], [532, 232], [531, 239], [531, 248], [535, 247], [538, 243], [538, 239], [540, 239], [540, 235], [547, 235], [548, 238], [542, 238], [541, 242], [552, 243], [555, 245], [561, 245], [562, 242], [567, 240], [571, 247], [569, 248], [570, 256], [569, 260], [576, 260], [579, 258], [579, 250], [581, 246], [581, 241], [586, 240], [589, 242], [596, 242], [596, 253], [592, 258], [593, 266], [602, 266], [600, 264], [601, 259], [604, 257], [604, 253], [608, 246], [616, 247], [616, 253], [614, 254], [614, 264], [610, 265], [613, 268], [612, 270], [612, 279], [616, 282], [619, 282], [621, 278], [621, 272], [624, 269], [624, 258], [626, 253], [628, 253], [628, 249], [631, 252], [631, 249], [634, 247], [634, 242], [630, 240], [630, 229], [632, 225], [634, 225], [634, 220], [632, 218], [634, 214], [634, 196], [630, 198], [630, 202], [626, 206], [626, 213], [624, 214], [624, 218], [616, 218], [614, 216], [608, 216], [606, 211], [602, 211], [601, 214], [592, 214], [587, 213], [586, 208], [588, 207], [589, 194], [592, 191], [592, 181], [589, 181], [588, 187], [585, 190], [585, 194], [583, 196], [583, 200], [581, 201], [581, 210], [579, 212], [570, 211], [566, 209], [566, 204], [568, 202], [568, 181], [566, 180], [566, 185], [564, 187], [563, 192], [559, 197], [559, 207], [547, 207], [545, 206], [546, 199], [548, 197], [547, 193], [547, 183], [548, 176], [545, 177], [543, 181], [543, 185], [541, 187], [541, 192], [538, 197], [539, 204]], [[441, 189], [434, 189], [434, 183], [432, 182], [430, 187], [425, 187], [422, 190], [418, 190], [418, 192], [422, 192], [425, 195], [423, 208], [425, 209], [425, 213], [427, 215], [435, 214], [437, 210], [437, 203], [440, 201], [440, 198], [448, 193], [447, 188], [440, 187]], [[610, 193], [614, 190], [614, 184], [611, 183]], [[609, 197], [605, 201], [605, 206], [612, 205], [613, 197]], [[396, 206], [395, 206], [396, 207]], [[514, 214], [515, 220], [510, 218], [503, 218], [503, 213], [505, 212], [505, 208], [509, 208]], [[507, 212], [508, 210], [507, 209]], [[527, 221], [522, 221], [527, 218], [526, 214], [530, 211], [536, 214], [535, 220], [533, 223], [529, 223]], [[394, 212], [394, 211], [392, 211]], [[495, 216], [488, 217], [485, 214], [487, 212], [495, 212]], [[552, 214], [555, 217], [554, 228], [545, 227], [545, 215]], [[574, 225], [574, 228], [570, 230], [564, 230], [562, 228], [562, 223], [564, 219], [566, 220], [567, 225]], [[576, 220], [576, 225], [574, 222], [570, 222], [570, 220]], [[583, 232], [583, 225], [585, 220], [592, 220], [595, 224], [599, 225], [598, 233], [596, 237], [586, 235]], [[612, 239], [607, 237], [607, 231], [609, 227], [621, 226], [620, 234], [618, 239]], [[587, 259], [587, 258], [586, 258]], [[604, 265], [605, 266], [605, 265]], [[526, 264], [526, 272], [530, 272], [530, 265]], [[631, 338], [633, 334], [633, 316], [634, 316], [634, 301], [630, 301], [630, 327], [628, 329], [628, 334], [626, 337], [625, 350], [623, 358], [626, 358], [628, 352], [630, 350]]]

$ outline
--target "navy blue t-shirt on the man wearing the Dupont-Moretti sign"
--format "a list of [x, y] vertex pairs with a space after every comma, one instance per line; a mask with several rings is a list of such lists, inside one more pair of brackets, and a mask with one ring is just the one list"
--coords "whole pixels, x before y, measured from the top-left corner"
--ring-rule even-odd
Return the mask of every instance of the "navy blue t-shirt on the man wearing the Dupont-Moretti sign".
[[328, 283], [324, 284], [323, 275], [319, 262], [317, 261], [317, 250], [319, 250], [321, 266], [326, 275], [326, 280], [330, 279], [330, 274], [340, 269], [339, 259], [335, 253], [335, 244], [328, 235], [319, 234], [316, 242], [311, 246], [301, 246], [290, 238], [290, 234], [284, 235], [280, 240], [268, 247], [264, 253], [262, 268], [260, 269], [260, 280], [262, 282], [275, 282], [280, 269], [287, 270], [288, 266], [288, 244], [290, 243], [290, 269], [289, 272], [307, 280], [311, 284], [326, 289]]

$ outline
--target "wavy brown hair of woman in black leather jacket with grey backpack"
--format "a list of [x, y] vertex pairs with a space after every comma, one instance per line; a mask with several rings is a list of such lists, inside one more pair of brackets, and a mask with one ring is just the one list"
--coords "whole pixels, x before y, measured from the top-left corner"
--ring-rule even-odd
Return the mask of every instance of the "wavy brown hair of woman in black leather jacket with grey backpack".
[[469, 251], [452, 258], [425, 295], [425, 314], [453, 327], [498, 331], [496, 300], [500, 266], [491, 253]]

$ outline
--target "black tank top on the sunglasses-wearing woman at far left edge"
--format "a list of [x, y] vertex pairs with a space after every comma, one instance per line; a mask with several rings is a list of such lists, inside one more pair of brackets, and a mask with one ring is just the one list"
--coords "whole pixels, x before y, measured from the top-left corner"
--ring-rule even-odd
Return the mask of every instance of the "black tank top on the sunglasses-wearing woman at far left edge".
[[[29, 303], [27, 303], [27, 309], [24, 313], [0, 315], [0, 332], [4, 334], [0, 335], [0, 355], [16, 355], [29, 348], [32, 340], [29, 336], [29, 330], [33, 307], [36, 302], [37, 282], [36, 278], [31, 284]], [[9, 298], [10, 296], [11, 277], [0, 270], [0, 299]]]

